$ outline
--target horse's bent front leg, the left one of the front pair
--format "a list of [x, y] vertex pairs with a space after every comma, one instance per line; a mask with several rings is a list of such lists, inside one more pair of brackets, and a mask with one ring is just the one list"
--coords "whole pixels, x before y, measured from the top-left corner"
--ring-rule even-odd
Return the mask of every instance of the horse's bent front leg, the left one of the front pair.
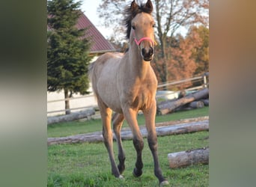
[[132, 108], [125, 108], [124, 109], [124, 116], [129, 124], [130, 129], [132, 130], [133, 135], [133, 145], [137, 152], [137, 159], [135, 162], [135, 168], [133, 170], [133, 175], [135, 177], [140, 177], [142, 174], [143, 162], [142, 162], [142, 150], [144, 147], [143, 138], [141, 132], [138, 128], [138, 122], [136, 119], [137, 111], [132, 110]]

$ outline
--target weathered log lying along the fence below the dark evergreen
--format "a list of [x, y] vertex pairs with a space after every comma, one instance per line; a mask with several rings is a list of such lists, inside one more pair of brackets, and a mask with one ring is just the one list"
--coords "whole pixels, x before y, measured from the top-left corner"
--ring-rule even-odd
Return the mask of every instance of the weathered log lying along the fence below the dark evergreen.
[[67, 122], [72, 120], [79, 120], [85, 117], [89, 117], [95, 114], [94, 108], [90, 108], [84, 111], [73, 112], [71, 114], [63, 115], [63, 116], [54, 116], [54, 117], [47, 117], [47, 124], [51, 125], [53, 123], [61, 123]]

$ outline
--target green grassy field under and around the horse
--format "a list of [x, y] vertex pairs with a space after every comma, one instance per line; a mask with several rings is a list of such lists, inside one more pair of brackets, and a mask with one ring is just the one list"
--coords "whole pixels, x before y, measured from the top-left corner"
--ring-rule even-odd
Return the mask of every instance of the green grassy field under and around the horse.
[[[178, 120], [208, 115], [208, 108], [183, 111], [156, 117], [156, 122]], [[142, 116], [138, 116], [141, 125]], [[125, 125], [126, 126], [126, 125]], [[81, 128], [81, 129], [80, 129]], [[49, 137], [74, 135], [101, 130], [100, 120], [86, 122], [61, 123], [49, 126]], [[207, 147], [208, 132], [196, 132], [185, 135], [159, 137], [159, 162], [162, 173], [170, 186], [208, 186], [208, 165], [192, 165], [187, 168], [170, 169], [168, 153]], [[117, 159], [117, 146], [115, 158]], [[144, 139], [143, 174], [132, 176], [135, 165], [135, 149], [132, 141], [124, 141], [127, 155], [124, 180], [118, 180], [111, 174], [109, 156], [103, 143], [61, 144], [48, 147], [48, 186], [159, 186], [153, 174], [153, 159]]]

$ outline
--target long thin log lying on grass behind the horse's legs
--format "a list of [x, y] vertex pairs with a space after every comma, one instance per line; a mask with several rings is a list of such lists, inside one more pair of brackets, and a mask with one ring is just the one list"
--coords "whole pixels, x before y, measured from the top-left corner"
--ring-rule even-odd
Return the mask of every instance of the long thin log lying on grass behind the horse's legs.
[[[201, 121], [193, 121], [187, 123], [180, 123], [178, 125], [172, 126], [157, 126], [156, 134], [158, 136], [165, 135], [179, 135], [189, 132], [199, 132], [209, 130], [209, 119]], [[143, 138], [147, 137], [147, 129], [143, 126], [140, 128], [141, 135]], [[133, 138], [130, 129], [124, 129], [121, 131], [121, 138], [123, 140], [131, 140]], [[114, 136], [115, 139], [115, 136]], [[72, 143], [82, 143], [82, 142], [98, 142], [103, 141], [102, 132], [91, 132], [88, 134], [72, 135], [61, 138], [48, 138], [47, 144], [72, 144]]]

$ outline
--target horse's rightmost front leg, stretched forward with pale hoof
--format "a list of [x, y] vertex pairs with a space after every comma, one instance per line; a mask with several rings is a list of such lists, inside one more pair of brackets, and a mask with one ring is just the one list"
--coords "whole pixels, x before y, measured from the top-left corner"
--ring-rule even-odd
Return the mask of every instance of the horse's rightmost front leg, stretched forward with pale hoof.
[[147, 128], [147, 142], [150, 147], [153, 162], [154, 162], [154, 173], [159, 180], [160, 185], [167, 185], [168, 181], [162, 176], [162, 170], [159, 166], [159, 159], [157, 153], [157, 136], [156, 136], [156, 126], [155, 126], [155, 118], [156, 118], [156, 101], [153, 100], [150, 108], [147, 108], [143, 111], [146, 128]]

